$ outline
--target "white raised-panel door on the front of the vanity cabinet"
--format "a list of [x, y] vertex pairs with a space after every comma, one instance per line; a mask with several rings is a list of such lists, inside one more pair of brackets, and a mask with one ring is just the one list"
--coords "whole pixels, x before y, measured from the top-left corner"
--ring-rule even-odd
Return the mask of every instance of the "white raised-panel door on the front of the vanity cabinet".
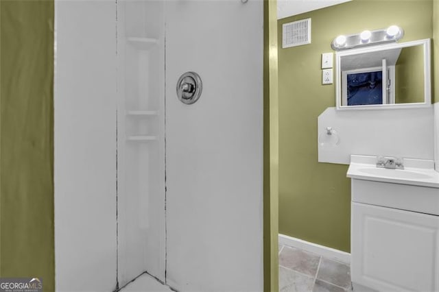
[[352, 282], [377, 291], [439, 291], [439, 216], [352, 203]]

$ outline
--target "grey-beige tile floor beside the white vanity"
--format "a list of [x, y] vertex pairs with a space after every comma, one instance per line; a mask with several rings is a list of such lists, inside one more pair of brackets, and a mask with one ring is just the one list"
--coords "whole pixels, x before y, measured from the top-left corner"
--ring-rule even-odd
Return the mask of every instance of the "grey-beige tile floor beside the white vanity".
[[279, 245], [279, 291], [352, 291], [351, 268], [318, 254]]

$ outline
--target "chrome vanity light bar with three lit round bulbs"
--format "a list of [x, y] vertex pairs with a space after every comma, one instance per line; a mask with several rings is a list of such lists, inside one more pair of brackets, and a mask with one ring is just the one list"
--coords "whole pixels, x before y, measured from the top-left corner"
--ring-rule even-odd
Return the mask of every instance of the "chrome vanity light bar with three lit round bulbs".
[[361, 34], [350, 34], [348, 36], [337, 36], [331, 42], [335, 51], [353, 49], [369, 45], [379, 45], [385, 42], [396, 42], [404, 36], [404, 30], [398, 25], [390, 25], [388, 28], [377, 30], [364, 30]]

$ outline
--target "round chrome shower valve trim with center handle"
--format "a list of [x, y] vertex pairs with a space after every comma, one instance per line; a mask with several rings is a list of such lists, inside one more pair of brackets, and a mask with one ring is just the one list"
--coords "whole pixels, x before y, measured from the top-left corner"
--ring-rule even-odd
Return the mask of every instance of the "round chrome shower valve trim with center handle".
[[193, 104], [201, 96], [202, 82], [200, 75], [195, 72], [186, 72], [177, 82], [177, 97], [183, 104]]

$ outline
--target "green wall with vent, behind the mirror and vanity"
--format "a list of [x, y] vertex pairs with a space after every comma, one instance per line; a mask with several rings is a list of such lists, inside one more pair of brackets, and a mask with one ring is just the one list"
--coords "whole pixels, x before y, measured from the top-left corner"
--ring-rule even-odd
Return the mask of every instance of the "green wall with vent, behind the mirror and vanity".
[[[437, 1], [437, 0], [435, 0]], [[278, 49], [279, 232], [350, 251], [351, 185], [347, 165], [318, 163], [317, 118], [335, 106], [334, 85], [322, 85], [321, 54], [340, 34], [403, 27], [402, 41], [432, 37], [432, 1], [354, 0], [278, 21], [311, 17], [310, 45]]]

